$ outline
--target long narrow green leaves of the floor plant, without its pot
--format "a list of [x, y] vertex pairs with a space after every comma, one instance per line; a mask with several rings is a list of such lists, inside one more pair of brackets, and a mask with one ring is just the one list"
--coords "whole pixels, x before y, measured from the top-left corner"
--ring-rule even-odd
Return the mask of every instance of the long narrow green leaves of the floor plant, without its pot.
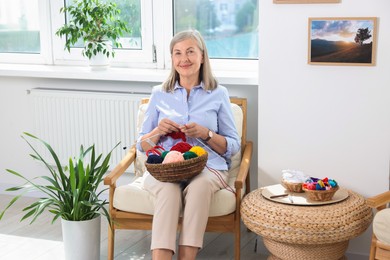
[[[39, 141], [49, 151], [55, 166], [49, 164], [26, 137]], [[31, 191], [39, 191], [45, 196], [25, 207], [23, 211], [26, 214], [21, 220], [32, 218], [30, 223], [33, 223], [45, 210], [48, 210], [54, 214], [52, 223], [58, 218], [82, 221], [102, 214], [111, 226], [111, 219], [106, 209], [108, 201], [100, 198], [107, 189], [98, 191], [98, 187], [109, 168], [111, 153], [119, 143], [104, 158], [102, 154], [96, 156], [94, 145], [87, 149], [81, 145], [78, 158], [69, 158], [69, 164], [62, 166], [57, 154], [48, 143], [29, 133], [24, 133], [22, 138], [33, 151], [30, 156], [41, 162], [50, 174], [28, 179], [21, 173], [7, 169], [8, 173], [23, 179], [25, 183], [6, 190], [22, 192], [15, 196], [0, 213], [0, 220], [6, 210], [20, 197]], [[44, 184], [40, 184], [42, 182]]]

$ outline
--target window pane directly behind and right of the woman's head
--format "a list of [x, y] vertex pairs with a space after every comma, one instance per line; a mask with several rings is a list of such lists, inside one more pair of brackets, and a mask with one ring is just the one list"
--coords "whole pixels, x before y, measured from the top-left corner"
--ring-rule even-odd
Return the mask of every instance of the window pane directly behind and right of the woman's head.
[[176, 0], [174, 32], [197, 29], [210, 58], [257, 59], [257, 0]]

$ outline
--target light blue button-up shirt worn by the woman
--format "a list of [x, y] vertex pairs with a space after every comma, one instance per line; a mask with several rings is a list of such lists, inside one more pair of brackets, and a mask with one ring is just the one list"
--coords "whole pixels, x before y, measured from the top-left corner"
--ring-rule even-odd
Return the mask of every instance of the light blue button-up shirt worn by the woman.
[[[230, 158], [240, 149], [241, 139], [234, 124], [228, 91], [223, 86], [206, 91], [203, 83], [192, 88], [187, 99], [185, 88], [176, 83], [173, 93], [162, 90], [162, 85], [155, 86], [145, 112], [144, 122], [139, 133], [141, 137], [158, 126], [163, 118], [180, 124], [195, 122], [226, 138], [227, 150], [222, 156], [213, 151], [201, 139], [187, 137], [187, 143], [201, 146], [208, 152], [207, 165], [216, 170], [227, 170]], [[157, 145], [169, 151], [181, 139], [161, 136]], [[140, 143], [138, 150], [142, 151]]]

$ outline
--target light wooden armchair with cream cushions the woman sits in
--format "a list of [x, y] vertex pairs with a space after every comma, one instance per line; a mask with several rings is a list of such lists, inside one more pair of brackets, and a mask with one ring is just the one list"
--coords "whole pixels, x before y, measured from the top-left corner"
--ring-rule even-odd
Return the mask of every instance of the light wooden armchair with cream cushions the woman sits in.
[[[234, 251], [236, 260], [240, 259], [240, 205], [242, 198], [250, 189], [250, 162], [253, 144], [246, 139], [247, 100], [231, 98], [231, 107], [235, 124], [241, 136], [241, 152], [233, 156], [229, 170], [228, 184], [235, 193], [226, 189], [216, 192], [212, 201], [206, 232], [230, 232], [234, 234]], [[142, 124], [148, 99], [141, 102], [138, 125]], [[118, 229], [151, 230], [153, 220], [153, 197], [142, 189], [142, 174], [145, 156], [132, 146], [122, 161], [104, 179], [109, 185], [109, 213], [114, 223], [108, 229], [108, 259], [114, 258], [115, 231]], [[134, 164], [138, 177], [129, 185], [117, 187], [117, 180], [126, 169]], [[180, 222], [180, 220], [179, 220]], [[180, 228], [180, 226], [179, 226]]]

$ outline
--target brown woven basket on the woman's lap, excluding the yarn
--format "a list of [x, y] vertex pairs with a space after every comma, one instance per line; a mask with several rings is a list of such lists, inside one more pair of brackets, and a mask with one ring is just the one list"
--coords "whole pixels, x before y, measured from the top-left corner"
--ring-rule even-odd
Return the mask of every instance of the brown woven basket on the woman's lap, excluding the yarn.
[[182, 162], [151, 164], [145, 163], [148, 172], [162, 182], [181, 182], [189, 180], [202, 172], [207, 163], [208, 155], [185, 160]]

